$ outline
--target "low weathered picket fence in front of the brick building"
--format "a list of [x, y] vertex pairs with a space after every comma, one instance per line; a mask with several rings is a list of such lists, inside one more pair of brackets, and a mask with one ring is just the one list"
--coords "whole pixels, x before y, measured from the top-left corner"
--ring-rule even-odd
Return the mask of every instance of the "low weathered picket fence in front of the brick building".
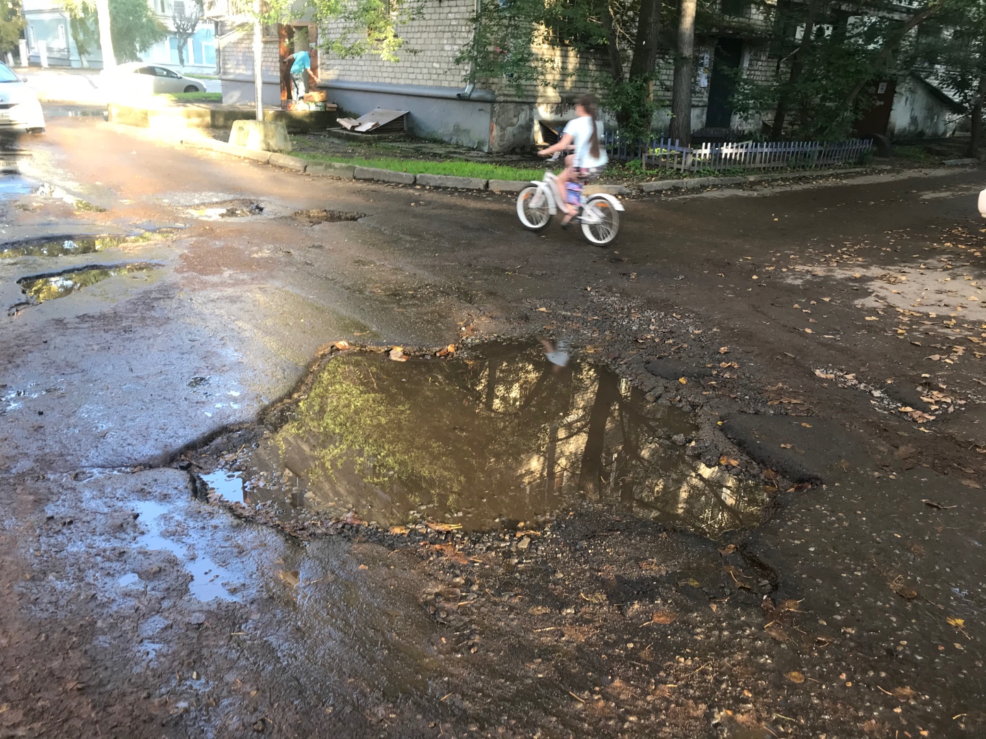
[[618, 133], [605, 136], [609, 156], [620, 161], [639, 160], [645, 168], [680, 169], [768, 169], [819, 168], [853, 164], [873, 148], [868, 139], [846, 141], [744, 141], [683, 147], [677, 141], [653, 138], [648, 142], [626, 142]]

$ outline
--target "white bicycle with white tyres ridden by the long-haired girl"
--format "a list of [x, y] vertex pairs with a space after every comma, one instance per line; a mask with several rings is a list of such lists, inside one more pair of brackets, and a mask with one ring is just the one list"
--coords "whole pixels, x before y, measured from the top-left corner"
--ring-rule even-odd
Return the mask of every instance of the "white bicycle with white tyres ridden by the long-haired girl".
[[[517, 217], [530, 231], [540, 231], [551, 222], [551, 217], [564, 211], [558, 200], [557, 177], [544, 172], [544, 179], [530, 180], [530, 186], [521, 190], [517, 196]], [[596, 192], [590, 196], [583, 193], [578, 184], [579, 214], [572, 219], [582, 225], [582, 234], [590, 243], [605, 246], [619, 232], [619, 214], [623, 204], [612, 195]]]

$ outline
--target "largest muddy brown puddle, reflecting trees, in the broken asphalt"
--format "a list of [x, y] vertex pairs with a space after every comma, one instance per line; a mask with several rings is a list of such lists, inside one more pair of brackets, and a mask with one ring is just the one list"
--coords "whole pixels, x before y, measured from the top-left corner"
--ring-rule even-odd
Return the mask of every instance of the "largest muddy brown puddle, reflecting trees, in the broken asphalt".
[[464, 530], [536, 525], [589, 500], [714, 536], [756, 525], [767, 504], [762, 486], [689, 456], [685, 414], [535, 347], [407, 362], [343, 352], [286, 419], [206, 483], [285, 517]]

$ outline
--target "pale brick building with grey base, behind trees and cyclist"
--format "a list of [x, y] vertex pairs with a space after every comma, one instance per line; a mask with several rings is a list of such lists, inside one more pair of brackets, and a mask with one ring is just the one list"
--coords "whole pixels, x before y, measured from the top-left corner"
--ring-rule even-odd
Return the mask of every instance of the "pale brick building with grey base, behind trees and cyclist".
[[[253, 101], [252, 26], [244, 0], [225, 3], [221, 34], [217, 39], [219, 77], [223, 101]], [[241, 10], [237, 11], [237, 7]], [[607, 69], [601, 53], [576, 52], [565, 46], [544, 45], [537, 52], [553, 61], [547, 85], [526, 85], [517, 90], [507, 79], [470, 79], [468, 64], [456, 57], [474, 33], [475, 0], [429, 2], [420, 16], [400, 29], [406, 51], [398, 62], [374, 56], [340, 59], [322, 52], [318, 75], [328, 100], [341, 111], [359, 115], [376, 107], [408, 110], [408, 129], [426, 139], [448, 141], [485, 152], [528, 149], [540, 143], [543, 121], [553, 127], [573, 114], [575, 99], [599, 92], [599, 78]], [[715, 24], [695, 39], [695, 78], [691, 128], [696, 141], [745, 138], [758, 134], [773, 117], [772, 111], [743, 118], [732, 108], [737, 76], [769, 80], [785, 74], [790, 63], [772, 48], [772, 29], [762, 8], [748, 0], [721, 0]], [[842, 19], [849, 22], [848, 16]], [[305, 21], [286, 25], [308, 26], [309, 38], [332, 38], [340, 28], [333, 23], [316, 28]], [[263, 34], [263, 101], [277, 105], [280, 96], [279, 58], [293, 48], [279, 48], [285, 27], [265, 29]], [[831, 33], [831, 26], [822, 33]], [[297, 37], [297, 35], [296, 35]], [[796, 36], [797, 37], [797, 36]], [[655, 90], [661, 109], [654, 128], [667, 131], [673, 55], [658, 61]], [[860, 133], [889, 136], [942, 136], [953, 130], [954, 103], [926, 81], [908, 81], [899, 90], [883, 86], [874, 97], [885, 106], [866, 121]], [[882, 97], [880, 97], [882, 96]], [[606, 121], [611, 124], [612, 121]]]

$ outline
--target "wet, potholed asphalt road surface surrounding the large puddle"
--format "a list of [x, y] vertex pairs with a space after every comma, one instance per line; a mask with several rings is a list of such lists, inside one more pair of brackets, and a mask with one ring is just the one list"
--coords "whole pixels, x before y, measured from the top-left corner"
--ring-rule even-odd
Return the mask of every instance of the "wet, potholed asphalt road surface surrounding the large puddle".
[[[4, 735], [982, 731], [979, 170], [631, 200], [600, 250], [521, 231], [507, 197], [303, 176], [99, 120], [53, 119], [31, 145], [33, 186], [106, 210], [15, 193], [5, 241], [168, 230], [0, 260]], [[232, 201], [263, 212], [199, 215]], [[291, 217], [319, 208], [365, 216]], [[159, 268], [40, 304], [17, 283], [131, 262]], [[422, 605], [464, 589], [461, 575], [358, 532], [295, 545], [192, 502], [187, 474], [158, 469], [250, 423], [328, 342], [563, 332], [694, 413], [712, 464], [811, 485], [716, 543], [737, 545], [739, 571], [687, 534], [627, 533], [599, 561], [559, 566], [573, 584], [544, 612], [511, 600], [544, 583], [500, 582], [456, 633], [510, 648], [463, 656]], [[703, 370], [723, 360], [733, 376]], [[935, 418], [916, 424], [902, 406]], [[592, 539], [580, 536], [546, 538], [541, 560], [568, 562], [569, 544]], [[659, 546], [664, 590], [640, 585], [633, 605], [606, 590]], [[196, 597], [191, 583], [216, 573], [226, 595]], [[669, 605], [680, 615], [642, 656], [641, 614]], [[548, 648], [535, 629], [570, 639], [551, 646], [549, 685], [525, 651]]]

